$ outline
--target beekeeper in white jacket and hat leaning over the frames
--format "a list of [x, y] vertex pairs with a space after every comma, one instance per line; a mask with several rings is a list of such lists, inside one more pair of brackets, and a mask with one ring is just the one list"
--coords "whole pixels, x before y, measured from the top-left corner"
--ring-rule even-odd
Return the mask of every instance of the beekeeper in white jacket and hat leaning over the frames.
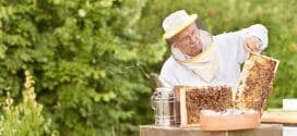
[[238, 32], [212, 36], [195, 25], [197, 14], [185, 10], [163, 21], [163, 38], [171, 55], [164, 63], [158, 79], [163, 87], [238, 84], [240, 64], [248, 52], [268, 47], [268, 29], [261, 24]]

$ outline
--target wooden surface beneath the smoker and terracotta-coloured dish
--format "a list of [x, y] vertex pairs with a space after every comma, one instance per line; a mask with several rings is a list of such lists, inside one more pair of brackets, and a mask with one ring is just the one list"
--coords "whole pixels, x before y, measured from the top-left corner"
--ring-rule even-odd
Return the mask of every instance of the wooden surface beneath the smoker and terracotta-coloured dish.
[[141, 125], [140, 136], [282, 136], [283, 125], [261, 124], [254, 129], [203, 132], [200, 127]]

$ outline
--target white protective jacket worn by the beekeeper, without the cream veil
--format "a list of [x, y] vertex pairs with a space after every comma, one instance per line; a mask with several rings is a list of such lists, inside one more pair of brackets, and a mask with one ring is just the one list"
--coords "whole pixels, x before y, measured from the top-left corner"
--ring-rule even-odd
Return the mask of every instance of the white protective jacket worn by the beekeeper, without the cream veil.
[[211, 79], [201, 76], [201, 73], [204, 73], [205, 69], [198, 69], [194, 72], [185, 66], [180, 61], [177, 61], [173, 55], [169, 57], [159, 74], [162, 86], [171, 88], [174, 86], [227, 85], [231, 86], [235, 92], [239, 81], [240, 65], [246, 61], [248, 55], [243, 47], [243, 40], [250, 36], [256, 36], [261, 40], [261, 51], [268, 47], [268, 29], [261, 24], [256, 24], [238, 32], [213, 36], [212, 48], [218, 59], [218, 69]]

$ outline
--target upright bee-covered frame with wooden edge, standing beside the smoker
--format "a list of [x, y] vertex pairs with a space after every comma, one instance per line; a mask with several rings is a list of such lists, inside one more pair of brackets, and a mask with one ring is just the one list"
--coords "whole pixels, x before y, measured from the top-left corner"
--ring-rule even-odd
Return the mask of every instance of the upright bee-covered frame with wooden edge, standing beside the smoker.
[[200, 111], [203, 109], [224, 111], [231, 107], [231, 88], [178, 87], [180, 101], [180, 126], [199, 126]]

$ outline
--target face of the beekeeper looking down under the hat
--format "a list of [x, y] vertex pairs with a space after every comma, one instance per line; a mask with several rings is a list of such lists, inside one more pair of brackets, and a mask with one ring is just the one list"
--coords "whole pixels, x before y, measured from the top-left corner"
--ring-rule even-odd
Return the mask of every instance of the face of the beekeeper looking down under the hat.
[[182, 53], [194, 57], [202, 51], [199, 29], [191, 24], [186, 29], [169, 39], [169, 44], [178, 48]]

